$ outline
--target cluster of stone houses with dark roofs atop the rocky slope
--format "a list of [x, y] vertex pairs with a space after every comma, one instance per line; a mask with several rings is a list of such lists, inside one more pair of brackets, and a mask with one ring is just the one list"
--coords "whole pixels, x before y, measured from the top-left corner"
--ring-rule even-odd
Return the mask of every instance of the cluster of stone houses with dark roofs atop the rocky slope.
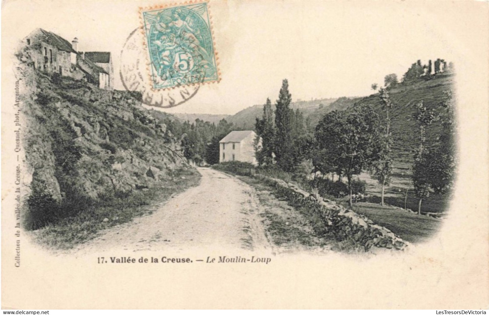
[[77, 80], [85, 78], [100, 89], [113, 87], [113, 81], [110, 80], [110, 73], [113, 71], [110, 53], [104, 53], [109, 54], [109, 62], [104, 63], [107, 64], [106, 70], [78, 51], [76, 37], [69, 43], [61, 36], [42, 28], [32, 31], [24, 38], [23, 44], [30, 52], [32, 67], [38, 71], [59, 73]]

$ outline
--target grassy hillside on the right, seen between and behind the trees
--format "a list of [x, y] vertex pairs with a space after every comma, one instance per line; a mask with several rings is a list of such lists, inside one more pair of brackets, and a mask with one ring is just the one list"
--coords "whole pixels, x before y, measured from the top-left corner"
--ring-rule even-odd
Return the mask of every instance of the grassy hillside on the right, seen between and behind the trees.
[[[428, 108], [439, 108], [444, 99], [445, 92], [453, 89], [453, 83], [453, 75], [443, 75], [429, 81], [420, 80], [411, 85], [401, 84], [397, 88], [389, 91], [394, 103], [390, 112], [391, 131], [394, 140], [394, 169], [391, 184], [386, 187], [386, 203], [404, 207], [404, 197], [406, 189], [408, 189], [407, 208], [418, 208], [418, 199], [413, 193], [413, 184], [411, 181], [414, 151], [418, 148], [420, 141], [418, 122], [412, 118], [412, 114], [415, 112], [414, 105], [423, 101], [424, 105]], [[340, 98], [331, 105], [334, 106], [334, 108], [330, 106], [321, 110], [316, 110], [315, 116], [317, 118], [312, 115], [311, 121], [319, 121], [322, 117], [321, 114], [324, 115], [333, 110], [348, 111], [358, 104], [370, 104], [374, 106], [374, 108], [381, 114], [381, 117], [385, 119], [385, 111], [382, 109], [378, 93], [375, 93], [363, 98]], [[439, 122], [435, 121], [432, 125], [428, 126], [426, 129], [426, 141], [428, 146], [430, 143], [436, 141], [440, 132], [441, 125]], [[363, 173], [359, 177], [361, 180], [367, 182], [367, 193], [374, 195], [370, 201], [380, 203], [379, 196], [381, 186], [378, 182], [372, 180], [367, 173]], [[449, 196], [432, 195], [423, 200], [422, 212], [443, 212], [447, 209], [448, 202]]]

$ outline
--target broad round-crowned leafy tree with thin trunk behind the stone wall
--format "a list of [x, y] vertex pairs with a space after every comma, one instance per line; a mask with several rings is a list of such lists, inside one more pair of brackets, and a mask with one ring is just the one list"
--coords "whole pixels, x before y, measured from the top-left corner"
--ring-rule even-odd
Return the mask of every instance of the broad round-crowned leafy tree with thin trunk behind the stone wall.
[[328, 113], [316, 127], [319, 149], [328, 157], [331, 168], [348, 180], [350, 205], [353, 176], [370, 169], [380, 158], [378, 119], [371, 106], [359, 105], [349, 113]]

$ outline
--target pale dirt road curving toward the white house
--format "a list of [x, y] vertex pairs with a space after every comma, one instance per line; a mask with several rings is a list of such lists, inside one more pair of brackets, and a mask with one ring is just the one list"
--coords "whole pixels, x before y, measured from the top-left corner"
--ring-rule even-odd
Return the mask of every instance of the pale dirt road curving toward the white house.
[[112, 227], [77, 254], [100, 251], [247, 248], [267, 250], [256, 192], [232, 176], [199, 168], [199, 186], [172, 197], [151, 215]]

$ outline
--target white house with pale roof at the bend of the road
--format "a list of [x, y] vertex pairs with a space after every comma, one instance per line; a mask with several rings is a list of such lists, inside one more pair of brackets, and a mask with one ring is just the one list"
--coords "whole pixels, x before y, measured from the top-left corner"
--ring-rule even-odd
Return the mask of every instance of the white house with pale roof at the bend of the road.
[[[255, 139], [256, 134], [252, 130], [230, 132], [219, 141], [219, 162], [241, 161], [256, 165]], [[261, 139], [259, 145], [260, 142]]]

